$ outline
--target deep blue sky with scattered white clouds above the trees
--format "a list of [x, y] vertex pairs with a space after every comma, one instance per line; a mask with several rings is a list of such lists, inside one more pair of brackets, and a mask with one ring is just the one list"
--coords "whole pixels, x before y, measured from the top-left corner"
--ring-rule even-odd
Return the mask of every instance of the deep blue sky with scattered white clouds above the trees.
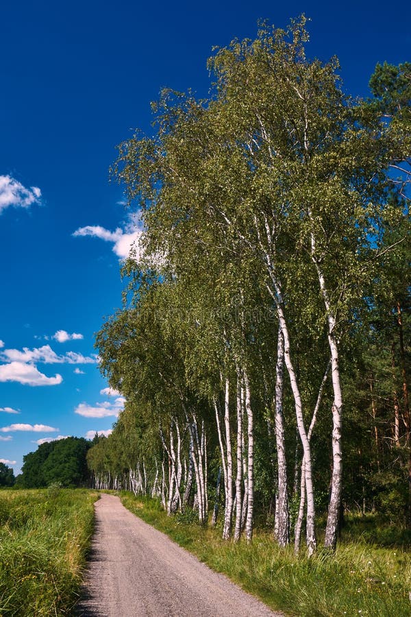
[[134, 128], [151, 133], [160, 88], [207, 95], [214, 45], [301, 12], [308, 55], [338, 56], [353, 95], [368, 94], [376, 62], [411, 59], [407, 3], [3, 3], [0, 460], [15, 472], [41, 440], [109, 431], [123, 404], [93, 355], [138, 234], [108, 182], [115, 145]]

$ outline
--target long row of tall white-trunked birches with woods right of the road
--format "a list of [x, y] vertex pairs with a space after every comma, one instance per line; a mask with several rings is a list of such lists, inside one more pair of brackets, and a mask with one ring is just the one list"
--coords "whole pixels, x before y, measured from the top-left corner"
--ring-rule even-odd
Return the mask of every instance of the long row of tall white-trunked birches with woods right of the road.
[[119, 147], [143, 257], [97, 335], [127, 404], [88, 461], [200, 522], [221, 495], [226, 538], [273, 512], [298, 550], [305, 520], [312, 554], [343, 502], [410, 522], [411, 64], [353, 100], [307, 40], [302, 17], [219, 49], [210, 99], [164, 91], [155, 136]]

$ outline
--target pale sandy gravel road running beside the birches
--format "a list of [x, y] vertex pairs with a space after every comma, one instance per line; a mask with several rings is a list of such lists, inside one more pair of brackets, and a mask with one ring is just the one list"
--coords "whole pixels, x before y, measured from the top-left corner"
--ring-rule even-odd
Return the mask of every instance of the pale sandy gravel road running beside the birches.
[[77, 614], [84, 617], [277, 616], [223, 574], [102, 494]]

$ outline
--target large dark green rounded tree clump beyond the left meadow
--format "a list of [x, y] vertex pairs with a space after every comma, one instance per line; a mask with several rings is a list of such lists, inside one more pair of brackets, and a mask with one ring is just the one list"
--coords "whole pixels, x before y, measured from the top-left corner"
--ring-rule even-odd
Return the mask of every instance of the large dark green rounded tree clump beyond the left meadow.
[[90, 474], [86, 455], [91, 445], [91, 441], [83, 437], [66, 437], [41, 444], [35, 452], [23, 457], [17, 485], [23, 488], [56, 483], [62, 487], [88, 486]]

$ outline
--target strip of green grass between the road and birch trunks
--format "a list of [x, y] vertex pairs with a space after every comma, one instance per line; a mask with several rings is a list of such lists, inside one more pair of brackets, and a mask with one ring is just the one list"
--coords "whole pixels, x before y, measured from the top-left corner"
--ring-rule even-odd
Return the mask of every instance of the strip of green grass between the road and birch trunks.
[[[130, 511], [273, 609], [301, 617], [410, 617], [410, 552], [377, 546], [375, 540], [372, 544], [361, 526], [345, 531], [334, 555], [320, 550], [308, 559], [295, 557], [292, 548], [279, 549], [266, 531], [257, 531], [250, 545], [223, 542], [221, 529], [203, 529], [184, 516], [167, 517], [155, 500], [125, 493], [121, 499]], [[384, 536], [381, 529], [375, 531], [378, 535]]]

